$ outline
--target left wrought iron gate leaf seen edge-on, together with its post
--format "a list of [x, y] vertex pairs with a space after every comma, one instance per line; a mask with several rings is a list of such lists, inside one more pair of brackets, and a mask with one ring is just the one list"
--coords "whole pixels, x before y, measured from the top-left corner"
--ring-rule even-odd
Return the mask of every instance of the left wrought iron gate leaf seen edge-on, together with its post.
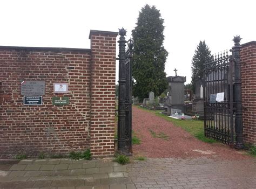
[[[119, 30], [118, 151], [132, 152], [132, 40], [125, 40], [126, 31]], [[125, 51], [125, 44], [128, 48]]]

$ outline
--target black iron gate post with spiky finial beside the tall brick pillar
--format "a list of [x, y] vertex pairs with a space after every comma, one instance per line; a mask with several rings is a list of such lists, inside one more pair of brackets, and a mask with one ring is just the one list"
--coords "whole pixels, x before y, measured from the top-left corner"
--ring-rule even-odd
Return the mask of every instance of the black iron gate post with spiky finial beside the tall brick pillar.
[[118, 79], [118, 128], [117, 128], [117, 149], [121, 154], [126, 155], [129, 153], [129, 148], [126, 146], [125, 137], [125, 91], [126, 91], [126, 78], [125, 78], [125, 29], [119, 29], [119, 79]]

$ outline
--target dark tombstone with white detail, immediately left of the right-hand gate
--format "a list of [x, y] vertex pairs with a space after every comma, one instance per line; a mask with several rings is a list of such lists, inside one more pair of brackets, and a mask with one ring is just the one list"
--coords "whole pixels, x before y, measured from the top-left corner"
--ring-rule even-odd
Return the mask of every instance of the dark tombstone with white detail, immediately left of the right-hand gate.
[[204, 114], [204, 96], [203, 96], [203, 80], [196, 81], [195, 98], [193, 100], [192, 111], [194, 113]]

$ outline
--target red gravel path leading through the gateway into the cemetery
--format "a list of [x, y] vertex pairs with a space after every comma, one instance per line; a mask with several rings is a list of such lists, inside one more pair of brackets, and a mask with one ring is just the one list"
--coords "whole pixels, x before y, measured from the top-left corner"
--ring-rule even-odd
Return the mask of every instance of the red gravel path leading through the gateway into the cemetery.
[[[194, 138], [180, 127], [164, 120], [152, 113], [132, 107], [132, 130], [142, 140], [139, 145], [133, 145], [133, 153], [149, 158], [196, 158], [211, 157], [220, 159], [246, 159], [250, 156], [242, 155], [241, 151], [231, 149], [221, 143], [208, 144]], [[169, 136], [169, 141], [153, 138], [150, 131], [164, 132]], [[192, 150], [212, 151], [214, 154], [205, 155]]]

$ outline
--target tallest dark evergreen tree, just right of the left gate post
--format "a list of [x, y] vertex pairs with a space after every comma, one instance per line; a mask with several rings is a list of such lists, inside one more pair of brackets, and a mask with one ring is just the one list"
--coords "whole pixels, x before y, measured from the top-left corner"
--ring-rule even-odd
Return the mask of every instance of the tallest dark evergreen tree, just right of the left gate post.
[[163, 46], [164, 19], [155, 6], [145, 5], [139, 12], [133, 37], [133, 95], [140, 100], [150, 91], [159, 96], [167, 88], [165, 61], [168, 55]]

